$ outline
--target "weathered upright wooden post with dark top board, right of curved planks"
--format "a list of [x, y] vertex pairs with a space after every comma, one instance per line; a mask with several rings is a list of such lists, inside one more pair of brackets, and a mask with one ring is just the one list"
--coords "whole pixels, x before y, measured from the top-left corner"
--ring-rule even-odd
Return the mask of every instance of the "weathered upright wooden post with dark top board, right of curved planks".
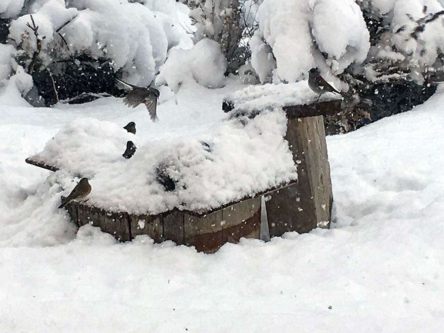
[[286, 110], [285, 139], [293, 153], [298, 181], [272, 193], [267, 202], [271, 237], [286, 231], [302, 233], [316, 227], [330, 227], [333, 191], [323, 116], [299, 116], [322, 112], [322, 108], [329, 108], [328, 113], [339, 111], [340, 103], [323, 102], [306, 108], [297, 106]]

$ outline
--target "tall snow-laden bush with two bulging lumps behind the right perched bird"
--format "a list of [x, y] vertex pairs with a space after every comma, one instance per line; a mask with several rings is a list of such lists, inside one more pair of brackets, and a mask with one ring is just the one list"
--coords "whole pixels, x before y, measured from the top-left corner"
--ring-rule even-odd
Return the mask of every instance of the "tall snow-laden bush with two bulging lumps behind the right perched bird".
[[341, 73], [364, 61], [370, 48], [363, 15], [353, 0], [264, 0], [258, 14], [251, 48], [262, 82], [273, 75], [274, 81], [295, 82], [312, 67]]

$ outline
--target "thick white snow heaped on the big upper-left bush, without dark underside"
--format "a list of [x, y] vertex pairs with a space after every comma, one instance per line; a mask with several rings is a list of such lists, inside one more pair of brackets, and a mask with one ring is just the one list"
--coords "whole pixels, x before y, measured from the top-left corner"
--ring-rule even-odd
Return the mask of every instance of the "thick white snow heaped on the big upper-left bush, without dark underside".
[[[178, 6], [183, 5], [174, 0], [146, 5], [118, 0], [40, 0], [30, 7], [30, 13], [39, 35], [45, 37], [39, 54], [45, 65], [87, 50], [92, 56], [111, 59], [113, 69], [121, 71], [125, 79], [148, 85], [165, 62], [168, 49], [187, 38], [174, 15]], [[9, 37], [34, 52], [36, 38], [27, 23], [29, 15], [12, 21]]]

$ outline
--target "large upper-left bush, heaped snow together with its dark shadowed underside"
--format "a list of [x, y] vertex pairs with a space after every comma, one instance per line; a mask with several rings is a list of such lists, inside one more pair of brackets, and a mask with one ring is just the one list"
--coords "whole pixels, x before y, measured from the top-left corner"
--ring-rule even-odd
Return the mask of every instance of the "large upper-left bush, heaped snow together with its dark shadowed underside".
[[46, 105], [82, 92], [114, 93], [116, 72], [148, 85], [169, 49], [192, 45], [181, 25], [188, 8], [175, 0], [23, 2], [2, 1], [0, 16], [12, 18], [8, 42]]

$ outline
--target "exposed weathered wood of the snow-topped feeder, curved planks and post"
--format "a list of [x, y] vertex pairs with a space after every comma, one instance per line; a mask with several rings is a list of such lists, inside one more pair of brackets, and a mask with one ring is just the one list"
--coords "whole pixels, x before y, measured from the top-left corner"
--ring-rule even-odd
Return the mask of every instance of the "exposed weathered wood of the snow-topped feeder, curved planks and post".
[[[223, 108], [227, 111], [235, 104], [224, 101]], [[297, 181], [269, 188], [254, 197], [227, 202], [210, 211], [176, 208], [156, 215], [136, 215], [108, 211], [89, 202], [71, 202], [66, 206], [71, 220], [78, 227], [98, 226], [121, 242], [148, 235], [155, 242], [172, 240], [206, 253], [217, 251], [226, 242], [236, 243], [242, 237], [266, 239], [261, 237], [264, 230], [274, 237], [287, 231], [302, 233], [316, 227], [329, 228], [333, 194], [323, 116], [337, 113], [340, 100], [287, 105], [283, 109], [288, 119], [285, 140], [297, 166]], [[58, 170], [39, 160], [38, 155], [26, 162]], [[263, 218], [265, 210], [267, 220]]]

